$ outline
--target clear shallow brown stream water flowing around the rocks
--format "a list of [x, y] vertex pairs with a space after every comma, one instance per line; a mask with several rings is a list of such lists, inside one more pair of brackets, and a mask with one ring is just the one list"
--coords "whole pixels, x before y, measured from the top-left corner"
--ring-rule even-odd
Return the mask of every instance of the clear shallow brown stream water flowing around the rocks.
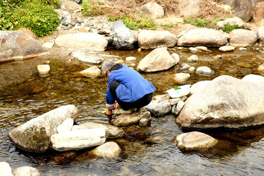
[[[248, 51], [220, 53], [191, 53], [188, 49], [170, 51], [180, 55], [179, 66], [196, 54], [200, 62], [190, 66], [209, 66], [215, 71], [212, 76], [191, 74], [186, 84], [212, 80], [227, 74], [241, 79], [247, 74], [259, 74], [257, 66], [264, 62], [263, 54], [248, 48]], [[109, 50], [103, 54], [118, 55], [122, 59], [135, 56], [140, 61], [149, 51], [136, 52]], [[212, 59], [222, 55], [223, 59]], [[73, 104], [79, 116], [76, 124], [99, 122], [111, 124], [114, 117], [96, 112], [105, 108], [107, 79], [89, 79], [78, 74], [88, 68], [84, 64], [67, 64], [56, 59], [51, 61], [51, 75], [41, 78], [36, 66], [44, 58], [30, 59], [0, 65], [0, 161], [12, 169], [22, 166], [37, 168], [42, 176], [260, 176], [264, 173], [264, 127], [243, 131], [202, 131], [220, 139], [223, 145], [210, 150], [183, 151], [176, 147], [177, 134], [189, 132], [180, 129], [176, 116], [168, 114], [153, 117], [150, 126], [123, 127], [126, 137], [115, 139], [122, 153], [116, 158], [94, 158], [86, 155], [89, 150], [74, 153], [68, 162], [58, 156], [62, 153], [27, 153], [9, 140], [8, 132], [28, 120], [57, 107]], [[241, 63], [250, 64], [241, 66]], [[130, 66], [130, 63], [124, 63]], [[136, 65], [138, 62], [135, 63]], [[172, 79], [178, 71], [175, 66], [157, 73], [141, 73], [157, 88], [154, 95], [165, 94], [176, 86]]]

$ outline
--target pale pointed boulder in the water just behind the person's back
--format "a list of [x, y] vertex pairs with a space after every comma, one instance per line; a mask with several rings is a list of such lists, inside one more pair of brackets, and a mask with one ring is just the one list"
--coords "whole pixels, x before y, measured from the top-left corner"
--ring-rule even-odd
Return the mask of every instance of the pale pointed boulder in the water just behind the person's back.
[[137, 67], [138, 71], [155, 72], [169, 69], [176, 62], [165, 47], [156, 48], [145, 56]]

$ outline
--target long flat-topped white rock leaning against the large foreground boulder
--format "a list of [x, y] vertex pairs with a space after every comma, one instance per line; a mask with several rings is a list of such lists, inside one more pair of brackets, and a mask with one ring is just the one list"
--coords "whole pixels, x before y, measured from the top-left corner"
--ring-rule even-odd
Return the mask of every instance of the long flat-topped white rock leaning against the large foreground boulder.
[[105, 136], [105, 129], [86, 129], [53, 134], [50, 139], [54, 150], [70, 151], [102, 145]]

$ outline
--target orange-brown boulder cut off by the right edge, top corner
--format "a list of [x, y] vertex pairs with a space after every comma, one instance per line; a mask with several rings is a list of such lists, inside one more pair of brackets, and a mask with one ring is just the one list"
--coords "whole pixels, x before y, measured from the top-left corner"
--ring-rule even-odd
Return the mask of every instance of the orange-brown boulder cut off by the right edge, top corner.
[[259, 2], [253, 5], [253, 22], [257, 26], [264, 26], [264, 2]]

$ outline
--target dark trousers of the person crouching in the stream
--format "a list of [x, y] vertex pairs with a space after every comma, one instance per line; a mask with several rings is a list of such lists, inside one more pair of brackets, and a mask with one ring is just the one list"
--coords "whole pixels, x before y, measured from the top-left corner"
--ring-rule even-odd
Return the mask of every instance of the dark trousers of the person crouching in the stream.
[[115, 89], [119, 85], [120, 85], [119, 82], [112, 81], [110, 83], [110, 91], [111, 91], [114, 99], [117, 101], [117, 103], [120, 105], [120, 107], [123, 110], [130, 110], [131, 108], [136, 108], [136, 109], [142, 108], [144, 106], [147, 106], [152, 100], [153, 93], [149, 93], [149, 94], [144, 95], [142, 98], [140, 98], [140, 99], [138, 99], [132, 103], [121, 101], [121, 100], [117, 99], [116, 92], [115, 92]]

